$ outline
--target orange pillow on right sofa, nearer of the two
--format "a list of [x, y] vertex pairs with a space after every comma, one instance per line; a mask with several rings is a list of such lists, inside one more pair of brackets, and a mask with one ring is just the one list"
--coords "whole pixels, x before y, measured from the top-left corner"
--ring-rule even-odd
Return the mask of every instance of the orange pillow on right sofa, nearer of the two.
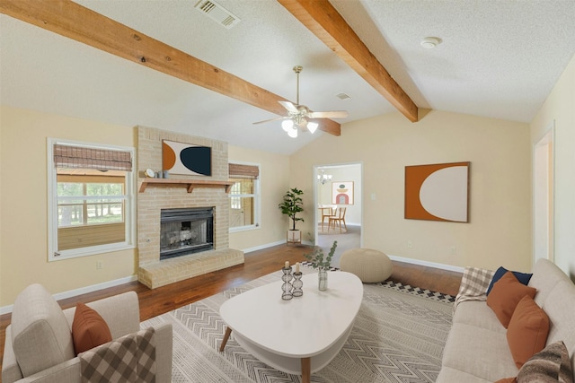
[[527, 295], [519, 300], [507, 329], [509, 350], [518, 369], [544, 349], [548, 333], [549, 318], [544, 310]]

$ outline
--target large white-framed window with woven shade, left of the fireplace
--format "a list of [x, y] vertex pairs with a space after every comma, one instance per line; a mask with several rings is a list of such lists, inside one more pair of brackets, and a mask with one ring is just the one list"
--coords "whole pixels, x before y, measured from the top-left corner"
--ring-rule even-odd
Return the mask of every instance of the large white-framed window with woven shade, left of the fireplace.
[[49, 140], [49, 260], [134, 248], [133, 157]]

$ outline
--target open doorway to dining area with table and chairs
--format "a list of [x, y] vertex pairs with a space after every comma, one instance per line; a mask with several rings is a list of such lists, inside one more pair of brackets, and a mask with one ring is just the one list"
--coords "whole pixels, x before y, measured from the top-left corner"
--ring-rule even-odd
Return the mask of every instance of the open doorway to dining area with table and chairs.
[[[332, 266], [340, 266], [341, 254], [349, 248], [361, 248], [363, 243], [363, 170], [361, 163], [318, 165], [314, 167], [315, 245], [328, 254], [333, 241], [338, 246], [332, 257]], [[322, 222], [322, 211], [338, 216], [345, 209], [342, 222]], [[340, 223], [340, 224], [338, 224]]]

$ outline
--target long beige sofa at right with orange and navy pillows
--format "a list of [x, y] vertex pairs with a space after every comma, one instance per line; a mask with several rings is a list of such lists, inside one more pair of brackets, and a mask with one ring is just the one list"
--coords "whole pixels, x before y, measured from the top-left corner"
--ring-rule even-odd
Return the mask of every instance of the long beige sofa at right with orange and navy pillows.
[[[552, 262], [540, 259], [534, 266], [528, 286], [537, 290], [535, 303], [549, 317], [546, 344], [562, 341], [566, 345], [572, 375], [575, 361], [575, 285]], [[507, 330], [487, 305], [486, 298], [479, 294], [457, 303], [460, 294], [437, 382], [491, 383], [517, 377], [519, 369], [509, 350]]]

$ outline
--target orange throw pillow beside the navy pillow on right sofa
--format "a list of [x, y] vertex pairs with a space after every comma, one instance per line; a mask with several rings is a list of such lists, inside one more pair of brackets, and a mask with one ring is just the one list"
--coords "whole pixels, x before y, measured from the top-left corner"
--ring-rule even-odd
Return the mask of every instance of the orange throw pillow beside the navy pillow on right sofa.
[[493, 288], [487, 296], [487, 306], [500, 319], [501, 325], [507, 328], [519, 300], [526, 295], [533, 298], [535, 292], [537, 292], [535, 288], [520, 283], [515, 275], [508, 271], [499, 281], [493, 283]]

